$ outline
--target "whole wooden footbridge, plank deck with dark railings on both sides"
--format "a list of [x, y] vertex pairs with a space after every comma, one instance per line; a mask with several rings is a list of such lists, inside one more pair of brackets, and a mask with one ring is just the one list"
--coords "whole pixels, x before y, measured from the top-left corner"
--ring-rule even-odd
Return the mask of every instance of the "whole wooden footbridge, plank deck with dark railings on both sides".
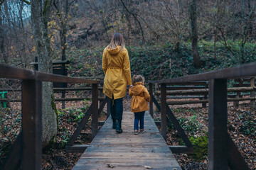
[[[105, 98], [98, 106], [98, 84], [100, 81], [63, 77], [0, 64], [1, 78], [22, 79], [22, 130], [0, 169], [20, 169], [20, 167], [21, 169], [41, 169], [42, 81], [91, 85], [92, 104], [67, 145], [67, 149], [73, 152], [84, 151], [87, 148], [74, 169], [181, 169], [171, 152], [193, 152], [193, 146], [168, 106], [169, 102], [166, 98], [169, 92], [166, 85], [186, 84], [191, 81], [209, 81], [209, 99], [207, 100], [209, 103], [208, 169], [226, 170], [228, 167], [230, 169], [249, 169], [227, 130], [227, 79], [255, 76], [256, 64], [247, 64], [188, 77], [162, 80], [158, 82], [161, 85], [160, 104], [154, 98], [151, 81], [149, 94], [152, 100], [145, 123], [147, 132], [133, 135], [133, 121], [131, 120], [133, 116], [131, 113], [124, 113], [124, 132], [117, 135], [111, 129], [110, 119], [105, 123], [98, 122], [98, 115], [102, 108], [106, 103], [110, 103]], [[255, 86], [252, 89], [250, 100], [255, 101]], [[161, 122], [159, 123], [161, 133], [152, 120], [153, 104], [161, 111]], [[85, 127], [90, 116], [92, 118], [92, 138], [94, 138], [92, 143], [89, 146], [74, 145], [75, 139]], [[164, 142], [166, 127], [170, 122], [173, 123], [186, 146], [169, 147], [166, 145]], [[98, 132], [98, 127], [102, 124], [103, 127]], [[134, 162], [135, 159], [137, 162]]]

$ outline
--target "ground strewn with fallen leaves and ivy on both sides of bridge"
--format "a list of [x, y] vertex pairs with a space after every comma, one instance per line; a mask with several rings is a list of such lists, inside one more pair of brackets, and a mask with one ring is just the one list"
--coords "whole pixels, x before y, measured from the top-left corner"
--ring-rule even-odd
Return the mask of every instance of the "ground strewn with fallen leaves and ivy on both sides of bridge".
[[[124, 98], [124, 110], [129, 110], [129, 101], [130, 98]], [[43, 149], [43, 169], [72, 169], [81, 155], [67, 153], [65, 145], [78, 125], [80, 118], [87, 110], [87, 105], [80, 102], [79, 105], [74, 103], [67, 104], [67, 107], [63, 110], [58, 109], [58, 135], [55, 144]], [[198, 139], [207, 135], [208, 108], [183, 107], [171, 109], [188, 137], [190, 137], [190, 140], [193, 141], [193, 144], [205, 146], [206, 144], [198, 142], [200, 141]], [[105, 113], [102, 113], [100, 119], [105, 120], [105, 117]], [[158, 112], [155, 112], [155, 118], [156, 120], [159, 118]], [[21, 112], [14, 109], [1, 108], [0, 121], [0, 163], [2, 163], [20, 131]], [[250, 169], [256, 169], [255, 121], [255, 111], [250, 111], [250, 107], [247, 104], [240, 105], [240, 108], [228, 107], [228, 131]], [[87, 128], [82, 130], [76, 143], [89, 144], [90, 141], [91, 132], [90, 123], [88, 123]], [[178, 137], [173, 127], [169, 127], [167, 143], [169, 145], [183, 145], [181, 138]], [[196, 155], [175, 154], [175, 157], [183, 169], [207, 169], [208, 158], [205, 150], [198, 150], [198, 152]]]

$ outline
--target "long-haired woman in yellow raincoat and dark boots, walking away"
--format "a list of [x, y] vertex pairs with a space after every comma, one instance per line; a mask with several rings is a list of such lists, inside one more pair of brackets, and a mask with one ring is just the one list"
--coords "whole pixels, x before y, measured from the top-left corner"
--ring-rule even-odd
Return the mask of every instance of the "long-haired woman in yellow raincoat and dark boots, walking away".
[[120, 33], [114, 33], [110, 45], [103, 52], [102, 69], [105, 74], [103, 93], [109, 97], [110, 113], [113, 120], [112, 128], [122, 132], [122, 113], [127, 84], [132, 86], [129, 55], [124, 47], [124, 38]]

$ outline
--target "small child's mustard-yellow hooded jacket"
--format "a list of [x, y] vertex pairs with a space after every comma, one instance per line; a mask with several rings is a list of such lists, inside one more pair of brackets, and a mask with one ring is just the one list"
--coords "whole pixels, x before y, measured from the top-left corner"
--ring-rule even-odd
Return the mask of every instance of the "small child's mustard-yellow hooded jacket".
[[149, 110], [149, 106], [146, 101], [150, 101], [149, 91], [143, 86], [142, 82], [136, 82], [135, 86], [129, 89], [129, 96], [132, 96], [132, 112], [142, 112]]

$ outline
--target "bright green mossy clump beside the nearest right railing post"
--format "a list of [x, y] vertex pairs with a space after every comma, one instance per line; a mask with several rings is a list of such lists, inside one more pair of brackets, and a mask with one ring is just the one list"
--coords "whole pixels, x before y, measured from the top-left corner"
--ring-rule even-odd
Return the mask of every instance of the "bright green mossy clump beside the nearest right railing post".
[[201, 162], [208, 154], [208, 134], [199, 137], [189, 137], [194, 149], [193, 159]]

